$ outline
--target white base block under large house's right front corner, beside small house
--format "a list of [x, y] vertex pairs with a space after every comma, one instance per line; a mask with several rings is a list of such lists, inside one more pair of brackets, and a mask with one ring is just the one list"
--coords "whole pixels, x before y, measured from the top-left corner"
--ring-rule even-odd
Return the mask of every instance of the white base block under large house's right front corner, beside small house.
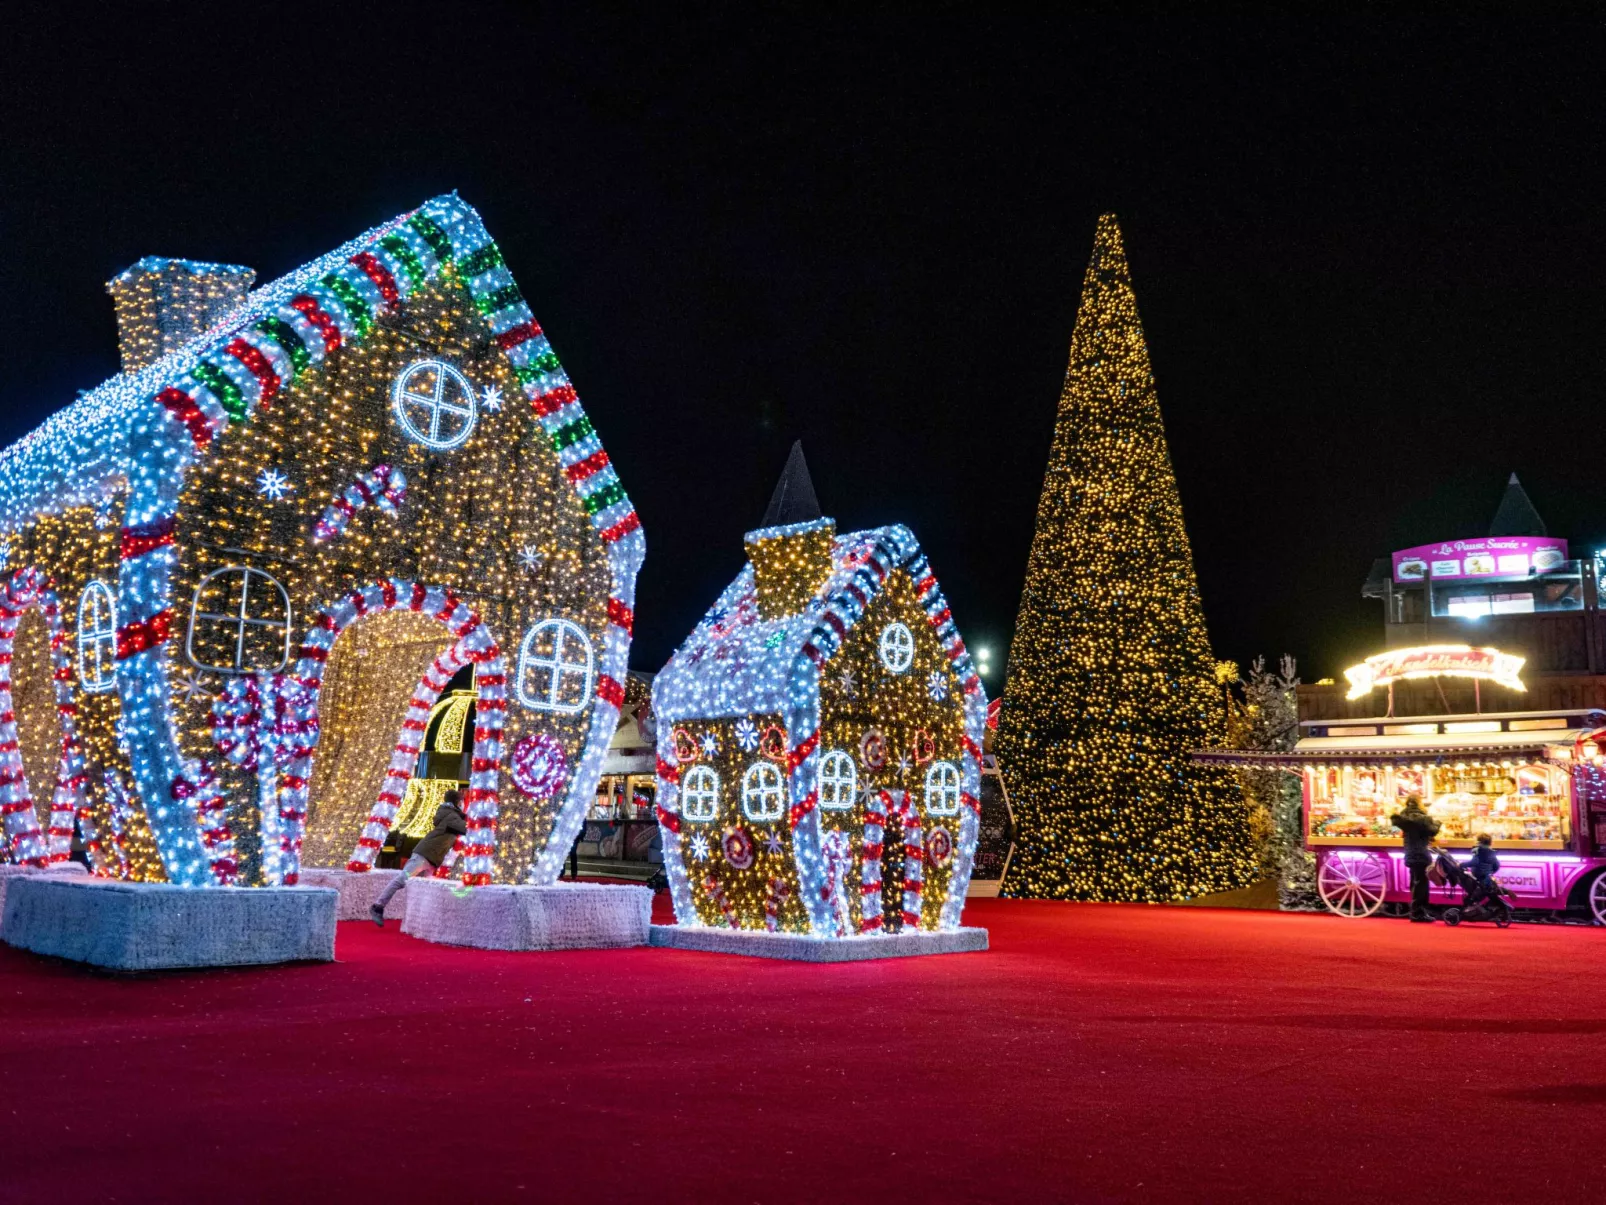
[[652, 925], [652, 892], [646, 887], [589, 882], [464, 887], [448, 879], [413, 879], [402, 895], [413, 895], [402, 932], [448, 946], [644, 946]]

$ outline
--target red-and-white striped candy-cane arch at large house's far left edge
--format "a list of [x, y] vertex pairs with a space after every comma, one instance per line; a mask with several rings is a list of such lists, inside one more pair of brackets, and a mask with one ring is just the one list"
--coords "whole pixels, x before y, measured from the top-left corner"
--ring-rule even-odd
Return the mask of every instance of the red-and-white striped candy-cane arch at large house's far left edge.
[[[50, 660], [55, 678], [56, 717], [61, 725], [56, 782], [50, 800], [50, 824], [40, 832], [39, 815], [22, 768], [21, 739], [11, 697], [11, 664], [16, 625], [37, 607], [50, 630]], [[71, 638], [61, 627], [61, 602], [47, 578], [32, 566], [11, 574], [0, 593], [0, 819], [10, 856], [18, 863], [47, 866], [72, 853], [72, 821], [85, 807], [84, 755], [75, 726]]]

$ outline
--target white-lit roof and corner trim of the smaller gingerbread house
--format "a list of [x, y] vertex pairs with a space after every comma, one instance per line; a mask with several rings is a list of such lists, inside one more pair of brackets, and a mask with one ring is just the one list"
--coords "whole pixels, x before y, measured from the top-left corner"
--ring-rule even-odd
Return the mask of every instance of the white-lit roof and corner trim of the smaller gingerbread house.
[[[829, 521], [821, 521], [829, 522]], [[789, 535], [813, 535], [814, 524], [792, 529], [768, 529], [748, 537], [768, 541]], [[766, 548], [766, 554], [768, 554]], [[970, 880], [980, 816], [981, 739], [986, 728], [986, 696], [952, 622], [948, 602], [931, 575], [925, 556], [912, 533], [890, 527], [840, 537], [832, 545], [832, 570], [801, 612], [766, 620], [760, 614], [752, 566], [721, 594], [716, 606], [699, 625], [692, 638], [675, 654], [654, 683], [654, 712], [658, 717], [658, 807], [663, 831], [665, 868], [670, 892], [681, 924], [699, 924], [692, 879], [687, 868], [687, 824], [679, 811], [681, 755], [676, 750], [676, 725], [691, 736], [694, 721], [729, 725], [723, 747], [742, 749], [756, 731], [782, 729], [766, 717], [781, 715], [787, 770], [787, 826], [792, 835], [792, 863], [800, 884], [798, 897], [806, 909], [809, 930], [816, 935], [840, 933], [838, 900], [832, 882], [842, 880], [842, 852], [834, 844], [822, 850], [817, 795], [819, 750], [819, 678], [832, 657], [843, 647], [854, 627], [882, 594], [895, 570], [906, 572], [914, 583], [914, 596], [925, 612], [941, 651], [960, 683], [962, 750], [959, 750], [960, 800], [957, 856], [948, 892], [938, 913], [936, 927], [954, 929], [964, 909]], [[880, 631], [870, 633], [878, 643]], [[901, 643], [899, 643], [901, 646]], [[907, 668], [907, 665], [904, 665]], [[922, 691], [923, 692], [923, 691]], [[944, 701], [931, 699], [933, 707]], [[734, 723], [732, 723], [734, 720]], [[800, 736], [801, 734], [801, 736]], [[718, 737], [716, 737], [718, 739]], [[692, 742], [695, 747], [697, 742]], [[748, 750], [744, 749], [744, 755]], [[723, 776], [728, 781], [729, 774]], [[707, 844], [707, 842], [705, 842]], [[827, 866], [827, 861], [830, 866]], [[914, 871], [919, 876], [919, 868]], [[740, 925], [740, 914], [726, 885], [711, 872], [700, 876], [703, 898], [710, 900], [728, 924]], [[878, 882], [878, 879], [877, 879]], [[919, 877], [915, 877], [919, 882]], [[906, 877], [907, 892], [907, 877]], [[917, 900], [919, 905], [919, 900]], [[768, 903], [764, 908], [768, 914]], [[915, 911], [919, 922], [919, 911]], [[734, 917], [734, 921], [732, 921]], [[758, 917], [753, 917], [758, 924]], [[764, 922], [768, 927], [768, 921]]]

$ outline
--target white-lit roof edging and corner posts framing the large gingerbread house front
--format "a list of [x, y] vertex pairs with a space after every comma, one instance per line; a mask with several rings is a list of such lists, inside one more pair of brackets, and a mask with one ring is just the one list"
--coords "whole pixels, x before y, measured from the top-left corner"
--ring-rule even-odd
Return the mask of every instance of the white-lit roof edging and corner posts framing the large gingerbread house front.
[[137, 787], [175, 882], [230, 882], [238, 872], [217, 784], [183, 757], [170, 712], [165, 659], [185, 469], [226, 421], [247, 421], [310, 365], [360, 342], [376, 315], [393, 310], [448, 263], [467, 284], [607, 546], [610, 627], [591, 725], [532, 877], [554, 879], [578, 831], [617, 721], [613, 696], [623, 696], [634, 577], [644, 548], [639, 521], [479, 215], [456, 196], [443, 196], [259, 289], [233, 315], [226, 334], [116, 378], [0, 455], [0, 522], [13, 529], [40, 514], [98, 504], [120, 480], [128, 482], [119, 572], [119, 696]]

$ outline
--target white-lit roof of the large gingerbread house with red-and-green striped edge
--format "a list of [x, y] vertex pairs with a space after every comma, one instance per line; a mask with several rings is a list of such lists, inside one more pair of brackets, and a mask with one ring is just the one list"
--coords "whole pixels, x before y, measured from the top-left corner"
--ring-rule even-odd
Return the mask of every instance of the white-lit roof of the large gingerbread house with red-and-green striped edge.
[[[307, 363], [320, 363], [326, 355], [339, 355], [342, 345], [358, 342], [373, 313], [405, 299], [446, 265], [474, 294], [565, 468], [588, 458], [601, 461], [599, 471], [570, 474], [593, 524], [613, 538], [620, 525], [633, 532], [634, 511], [607, 468], [569, 378], [517, 296], [479, 214], [456, 193], [432, 198], [244, 294], [243, 304], [223, 312], [204, 333], [154, 363], [80, 394], [6, 447], [0, 451], [0, 530], [16, 530], [39, 514], [96, 504], [125, 488], [133, 461], [148, 460], [153, 442], [161, 442], [156, 432], [164, 426], [162, 406], [169, 419], [190, 429], [194, 442], [194, 451], [170, 466], [181, 471], [183, 463], [204, 455], [210, 435], [226, 421], [249, 421], [263, 394], [294, 381]], [[146, 257], [108, 288], [116, 296], [130, 273], [156, 268], [234, 281], [249, 281], [251, 272], [228, 263]], [[316, 299], [316, 310], [329, 315], [337, 329], [316, 326], [304, 308], [292, 305], [304, 297]]]

